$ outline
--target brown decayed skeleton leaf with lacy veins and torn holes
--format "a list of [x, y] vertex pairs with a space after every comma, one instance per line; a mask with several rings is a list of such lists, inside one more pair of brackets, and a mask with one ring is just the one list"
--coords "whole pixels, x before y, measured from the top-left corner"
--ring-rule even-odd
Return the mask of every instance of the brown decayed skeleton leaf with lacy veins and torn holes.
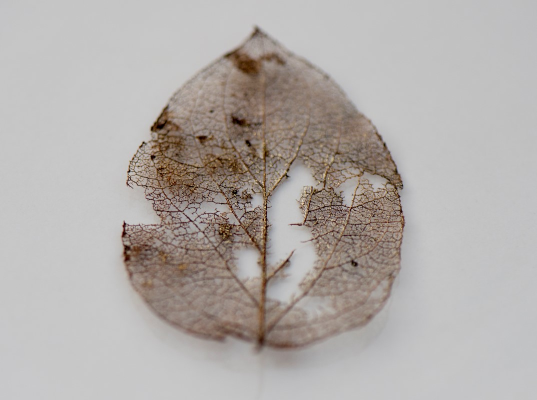
[[[123, 241], [130, 279], [156, 313], [196, 335], [295, 347], [382, 308], [400, 265], [401, 178], [371, 122], [322, 71], [256, 29], [173, 95], [151, 130], [127, 183], [145, 188], [162, 223], [125, 224]], [[285, 303], [267, 288], [300, 260], [267, 262], [267, 208], [297, 160], [317, 184], [289, 204], [317, 261]], [[367, 174], [387, 183], [374, 189]], [[358, 184], [344, 203], [349, 179]], [[258, 251], [258, 278], [237, 275], [244, 248]]]

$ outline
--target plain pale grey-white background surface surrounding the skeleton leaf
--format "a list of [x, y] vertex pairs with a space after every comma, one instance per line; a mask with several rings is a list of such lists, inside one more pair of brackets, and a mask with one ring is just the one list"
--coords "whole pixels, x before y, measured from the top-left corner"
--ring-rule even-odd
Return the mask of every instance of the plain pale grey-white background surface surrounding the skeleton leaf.
[[[537, 3], [0, 4], [0, 398], [537, 398]], [[254, 24], [328, 72], [405, 188], [402, 270], [364, 330], [256, 353], [132, 290], [125, 185], [168, 98]]]

